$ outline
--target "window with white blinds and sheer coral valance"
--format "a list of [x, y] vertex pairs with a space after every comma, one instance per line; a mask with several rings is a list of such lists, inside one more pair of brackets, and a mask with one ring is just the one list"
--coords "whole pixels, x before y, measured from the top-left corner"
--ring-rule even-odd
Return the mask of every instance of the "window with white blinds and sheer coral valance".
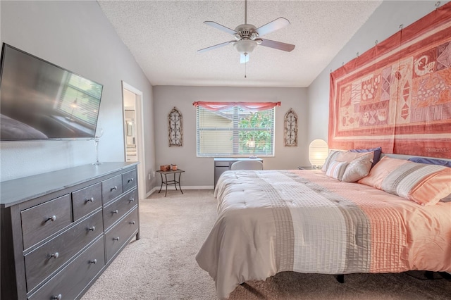
[[280, 102], [272, 105], [202, 104], [205, 102], [194, 102], [197, 106], [197, 156], [274, 155], [275, 106], [280, 106]]

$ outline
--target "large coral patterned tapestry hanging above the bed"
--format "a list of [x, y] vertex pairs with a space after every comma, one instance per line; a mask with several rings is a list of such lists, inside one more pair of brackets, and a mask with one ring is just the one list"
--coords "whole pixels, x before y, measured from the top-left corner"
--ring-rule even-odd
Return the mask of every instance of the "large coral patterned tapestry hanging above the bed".
[[330, 73], [328, 144], [451, 158], [451, 2]]

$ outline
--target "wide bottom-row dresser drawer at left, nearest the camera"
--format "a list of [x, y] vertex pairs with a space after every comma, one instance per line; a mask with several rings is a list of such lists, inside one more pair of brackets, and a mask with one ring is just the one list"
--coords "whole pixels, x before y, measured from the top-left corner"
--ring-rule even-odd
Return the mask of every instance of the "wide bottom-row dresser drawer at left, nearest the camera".
[[45, 285], [28, 297], [30, 300], [76, 299], [105, 265], [104, 237], [94, 242], [80, 256], [54, 275]]

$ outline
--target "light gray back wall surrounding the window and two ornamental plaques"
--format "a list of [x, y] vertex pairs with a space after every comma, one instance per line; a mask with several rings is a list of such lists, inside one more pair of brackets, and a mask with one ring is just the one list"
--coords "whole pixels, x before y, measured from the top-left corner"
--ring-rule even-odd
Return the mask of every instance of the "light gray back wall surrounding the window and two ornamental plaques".
[[[307, 144], [308, 101], [306, 88], [252, 87], [154, 87], [156, 166], [175, 163], [186, 171], [182, 186], [213, 187], [213, 158], [196, 156], [194, 101], [281, 101], [276, 108], [275, 157], [264, 158], [265, 169], [295, 169], [309, 165]], [[177, 107], [183, 115], [183, 146], [168, 146], [168, 113]], [[293, 108], [299, 118], [297, 147], [283, 146], [283, 116]], [[159, 180], [159, 179], [158, 179]]]

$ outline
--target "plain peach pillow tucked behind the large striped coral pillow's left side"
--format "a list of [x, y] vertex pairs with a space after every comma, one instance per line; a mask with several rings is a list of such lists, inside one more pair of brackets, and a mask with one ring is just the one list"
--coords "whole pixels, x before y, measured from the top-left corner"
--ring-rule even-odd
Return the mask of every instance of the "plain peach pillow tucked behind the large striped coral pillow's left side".
[[404, 163], [412, 163], [405, 159], [390, 158], [384, 156], [376, 165], [371, 168], [369, 175], [359, 180], [359, 183], [363, 185], [369, 185], [370, 187], [376, 187], [376, 189], [382, 189], [382, 181], [400, 165]]

